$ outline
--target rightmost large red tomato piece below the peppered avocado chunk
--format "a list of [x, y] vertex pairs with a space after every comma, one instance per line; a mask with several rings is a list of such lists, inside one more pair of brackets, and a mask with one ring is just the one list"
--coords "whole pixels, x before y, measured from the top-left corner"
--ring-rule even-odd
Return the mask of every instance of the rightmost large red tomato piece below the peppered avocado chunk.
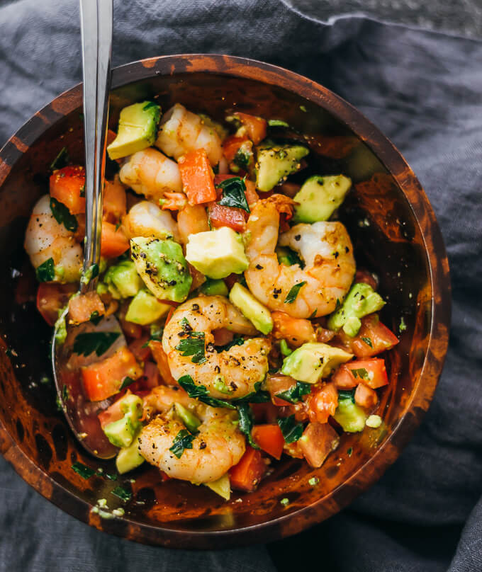
[[340, 330], [335, 341], [340, 342], [340, 345], [357, 357], [373, 357], [385, 350], [391, 350], [398, 343], [398, 338], [383, 326], [378, 314], [370, 314], [361, 318], [361, 328], [357, 336], [350, 338]]

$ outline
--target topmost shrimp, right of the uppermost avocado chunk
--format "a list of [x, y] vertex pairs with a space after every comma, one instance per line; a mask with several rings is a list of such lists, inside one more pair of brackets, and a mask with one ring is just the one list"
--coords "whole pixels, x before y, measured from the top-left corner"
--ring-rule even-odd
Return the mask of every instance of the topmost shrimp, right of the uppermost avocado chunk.
[[205, 149], [211, 165], [217, 165], [223, 156], [221, 140], [213, 127], [180, 103], [164, 113], [155, 146], [176, 161], [195, 149]]

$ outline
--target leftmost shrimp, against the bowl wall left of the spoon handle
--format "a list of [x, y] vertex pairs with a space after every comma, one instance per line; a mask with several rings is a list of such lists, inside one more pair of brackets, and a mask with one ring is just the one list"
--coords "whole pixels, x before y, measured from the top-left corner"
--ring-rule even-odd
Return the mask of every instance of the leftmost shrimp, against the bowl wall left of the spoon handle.
[[24, 247], [34, 268], [53, 258], [56, 282], [77, 282], [82, 268], [82, 246], [72, 231], [57, 222], [50, 209], [50, 195], [33, 207]]

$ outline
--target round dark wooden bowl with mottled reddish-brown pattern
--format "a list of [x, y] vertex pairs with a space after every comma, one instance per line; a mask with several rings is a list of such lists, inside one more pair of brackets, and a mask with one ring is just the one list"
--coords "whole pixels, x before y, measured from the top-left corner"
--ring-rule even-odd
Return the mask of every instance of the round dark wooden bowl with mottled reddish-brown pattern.
[[[442, 371], [450, 319], [449, 264], [435, 214], [420, 183], [393, 144], [359, 111], [291, 71], [220, 55], [156, 57], [113, 70], [111, 127], [123, 106], [159, 96], [165, 110], [179, 101], [222, 119], [226, 110], [284, 119], [308, 137], [316, 171], [352, 177], [340, 217], [357, 263], [374, 270], [388, 301], [385, 324], [400, 343], [387, 355], [379, 430], [343, 435], [320, 469], [283, 459], [258, 490], [225, 503], [206, 487], [159, 484], [155, 469], [108, 479], [113, 464], [97, 462], [72, 437], [57, 411], [47, 357], [51, 331], [35, 309], [35, 279], [23, 251], [33, 204], [47, 192], [52, 159], [67, 147], [83, 161], [82, 89], [75, 86], [36, 113], [0, 151], [0, 443], [28, 484], [62, 510], [99, 530], [167, 547], [215, 549], [286, 537], [337, 513], [379, 479], [408, 442]], [[306, 175], [306, 173], [304, 173]], [[98, 474], [83, 479], [82, 462]], [[308, 483], [318, 476], [317, 486]], [[135, 478], [135, 483], [130, 479]], [[132, 488], [128, 502], [116, 486]], [[91, 513], [99, 498], [123, 506], [113, 519]], [[280, 503], [288, 498], [289, 504]]]

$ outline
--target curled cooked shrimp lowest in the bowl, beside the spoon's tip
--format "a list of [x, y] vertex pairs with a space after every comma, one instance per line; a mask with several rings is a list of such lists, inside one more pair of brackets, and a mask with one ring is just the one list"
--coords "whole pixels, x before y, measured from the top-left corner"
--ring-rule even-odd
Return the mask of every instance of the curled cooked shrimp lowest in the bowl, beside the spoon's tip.
[[[201, 421], [198, 433], [178, 458], [171, 448], [184, 424], [173, 414], [179, 403]], [[245, 453], [245, 437], [235, 423], [236, 413], [214, 408], [191, 399], [185, 391], [155, 387], [144, 399], [149, 416], [159, 412], [145, 425], [138, 437], [138, 449], [147, 462], [159, 467], [173, 479], [196, 484], [217, 481], [237, 464]]]

